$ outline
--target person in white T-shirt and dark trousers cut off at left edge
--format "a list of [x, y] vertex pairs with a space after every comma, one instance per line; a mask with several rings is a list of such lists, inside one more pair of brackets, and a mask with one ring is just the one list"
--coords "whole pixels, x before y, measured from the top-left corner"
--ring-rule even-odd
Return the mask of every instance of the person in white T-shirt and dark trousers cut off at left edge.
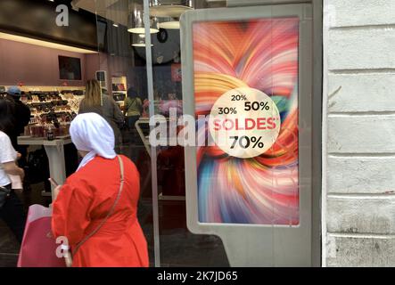
[[12, 190], [12, 181], [23, 181], [25, 173], [16, 163], [21, 154], [15, 151], [7, 135], [15, 127], [12, 123], [12, 108], [12, 102], [0, 97], [0, 218], [21, 243], [26, 216], [21, 200]]

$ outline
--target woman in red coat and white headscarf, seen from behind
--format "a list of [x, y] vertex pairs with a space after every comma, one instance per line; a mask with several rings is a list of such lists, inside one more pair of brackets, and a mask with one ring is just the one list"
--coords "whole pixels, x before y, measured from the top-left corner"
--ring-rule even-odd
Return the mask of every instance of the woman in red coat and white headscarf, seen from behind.
[[147, 267], [147, 242], [136, 216], [135, 164], [117, 156], [111, 126], [95, 113], [78, 115], [70, 136], [83, 159], [54, 189], [53, 235], [68, 239], [72, 266]]

